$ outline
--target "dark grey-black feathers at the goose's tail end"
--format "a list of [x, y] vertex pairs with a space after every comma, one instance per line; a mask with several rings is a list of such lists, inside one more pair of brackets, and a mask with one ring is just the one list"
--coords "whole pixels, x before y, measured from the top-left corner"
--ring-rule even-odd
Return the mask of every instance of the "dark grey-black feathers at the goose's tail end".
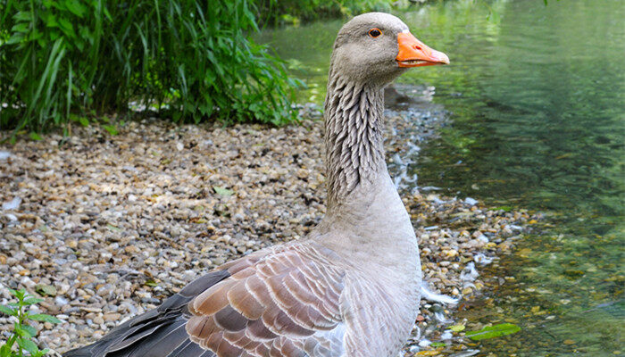
[[215, 270], [185, 286], [157, 309], [147, 311], [112, 329], [93, 345], [65, 353], [64, 357], [212, 357], [188, 339], [187, 303], [207, 288], [228, 278]]

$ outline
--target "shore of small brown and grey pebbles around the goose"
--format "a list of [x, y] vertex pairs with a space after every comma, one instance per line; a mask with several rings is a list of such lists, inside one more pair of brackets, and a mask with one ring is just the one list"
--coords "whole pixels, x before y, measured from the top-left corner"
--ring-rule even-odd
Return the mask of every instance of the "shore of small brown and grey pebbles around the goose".
[[[416, 189], [407, 158], [445, 113], [411, 108], [387, 112], [389, 169], [420, 237], [429, 290], [471, 298], [484, 286], [476, 268], [509, 250], [532, 217]], [[63, 353], [223, 262], [304, 237], [325, 212], [321, 127], [143, 120], [116, 136], [92, 126], [66, 140], [0, 145], [0, 304], [8, 287], [45, 295], [40, 310], [63, 323], [39, 324], [37, 340]], [[406, 355], [436, 353], [424, 339], [448, 337], [454, 307], [433, 299], [421, 303]], [[0, 317], [0, 340], [11, 328]]]

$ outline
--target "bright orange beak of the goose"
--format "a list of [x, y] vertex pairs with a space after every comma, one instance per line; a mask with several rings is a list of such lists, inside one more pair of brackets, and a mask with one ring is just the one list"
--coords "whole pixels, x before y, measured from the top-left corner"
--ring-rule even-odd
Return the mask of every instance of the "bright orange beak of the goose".
[[410, 32], [400, 32], [397, 35], [399, 53], [396, 61], [399, 67], [423, 67], [434, 64], [449, 64], [449, 57], [442, 52], [425, 46]]

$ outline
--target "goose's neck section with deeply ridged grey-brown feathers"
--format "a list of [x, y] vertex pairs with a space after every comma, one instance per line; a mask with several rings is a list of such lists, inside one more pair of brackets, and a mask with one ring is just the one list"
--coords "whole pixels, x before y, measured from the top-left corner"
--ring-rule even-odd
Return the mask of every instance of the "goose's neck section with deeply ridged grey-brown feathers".
[[386, 169], [382, 88], [332, 74], [324, 114], [329, 209]]

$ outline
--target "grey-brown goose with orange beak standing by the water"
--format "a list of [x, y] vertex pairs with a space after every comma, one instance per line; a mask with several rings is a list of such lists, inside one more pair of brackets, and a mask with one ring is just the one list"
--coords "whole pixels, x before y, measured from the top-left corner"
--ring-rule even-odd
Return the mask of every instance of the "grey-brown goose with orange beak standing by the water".
[[409, 68], [447, 63], [396, 16], [346, 22], [330, 60], [319, 225], [226, 262], [65, 356], [396, 356], [418, 314], [421, 262], [385, 162], [383, 88]]

